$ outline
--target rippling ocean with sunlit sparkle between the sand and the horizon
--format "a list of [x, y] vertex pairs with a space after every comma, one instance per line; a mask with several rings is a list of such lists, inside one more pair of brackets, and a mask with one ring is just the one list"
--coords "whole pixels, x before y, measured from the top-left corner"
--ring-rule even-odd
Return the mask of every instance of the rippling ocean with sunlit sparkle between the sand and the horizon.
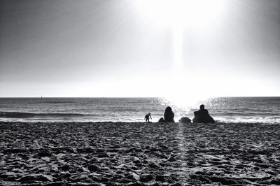
[[175, 121], [193, 119], [204, 103], [217, 122], [280, 124], [280, 97], [219, 97], [177, 106], [164, 98], [0, 98], [0, 121], [8, 122], [151, 122], [171, 106]]

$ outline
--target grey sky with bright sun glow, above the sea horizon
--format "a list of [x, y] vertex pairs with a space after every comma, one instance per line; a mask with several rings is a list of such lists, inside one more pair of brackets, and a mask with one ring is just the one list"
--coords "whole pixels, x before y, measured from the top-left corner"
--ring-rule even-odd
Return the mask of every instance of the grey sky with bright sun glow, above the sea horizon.
[[1, 0], [0, 97], [280, 96], [279, 0]]

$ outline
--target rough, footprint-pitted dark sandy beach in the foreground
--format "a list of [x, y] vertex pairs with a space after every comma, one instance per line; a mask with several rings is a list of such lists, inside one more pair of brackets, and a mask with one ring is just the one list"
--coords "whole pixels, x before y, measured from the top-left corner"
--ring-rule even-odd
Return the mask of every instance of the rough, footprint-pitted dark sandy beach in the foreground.
[[280, 125], [0, 122], [0, 185], [280, 185]]

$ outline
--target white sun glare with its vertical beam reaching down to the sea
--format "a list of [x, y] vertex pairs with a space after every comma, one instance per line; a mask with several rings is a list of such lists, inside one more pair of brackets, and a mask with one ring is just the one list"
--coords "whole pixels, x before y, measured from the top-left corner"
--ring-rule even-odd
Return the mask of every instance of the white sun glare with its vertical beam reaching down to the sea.
[[225, 0], [137, 0], [136, 2], [141, 16], [146, 20], [153, 22], [155, 26], [172, 29], [174, 55], [172, 84], [177, 90], [167, 91], [167, 99], [180, 107], [186, 106], [186, 103], [191, 106], [199, 100], [206, 99], [207, 96], [202, 94], [203, 91], [195, 88], [200, 86], [195, 84], [183, 86], [186, 82], [192, 81], [192, 77], [186, 73], [189, 69], [181, 70], [182, 64], [188, 66], [188, 59], [182, 59], [183, 41], [186, 42], [184, 33], [209, 31], [212, 24], [223, 17]]

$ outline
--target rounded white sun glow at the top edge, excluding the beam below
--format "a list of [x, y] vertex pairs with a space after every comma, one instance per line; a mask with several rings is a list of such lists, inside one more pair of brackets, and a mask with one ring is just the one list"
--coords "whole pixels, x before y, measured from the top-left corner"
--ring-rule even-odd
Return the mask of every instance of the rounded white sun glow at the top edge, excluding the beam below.
[[221, 16], [225, 0], [137, 0], [137, 8], [155, 24], [202, 29]]

